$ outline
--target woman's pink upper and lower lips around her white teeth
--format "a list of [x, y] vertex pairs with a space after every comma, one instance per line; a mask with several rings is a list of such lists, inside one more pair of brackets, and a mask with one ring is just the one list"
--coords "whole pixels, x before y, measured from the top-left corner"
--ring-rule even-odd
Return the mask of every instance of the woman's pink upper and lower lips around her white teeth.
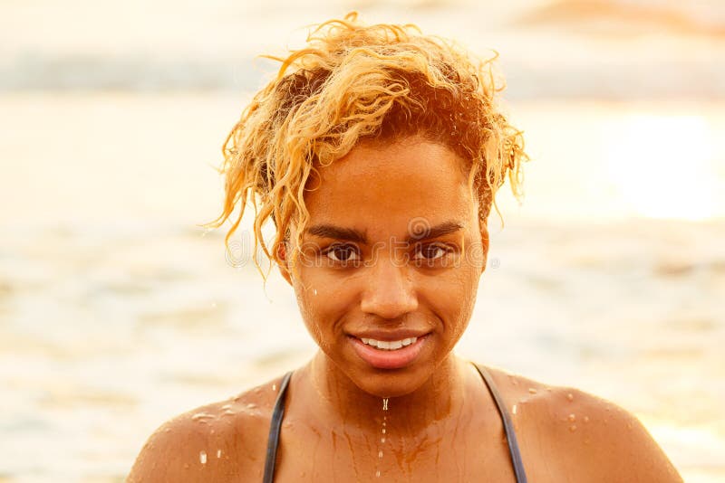
[[393, 331], [393, 332], [367, 332], [360, 337], [373, 338], [376, 340], [393, 341], [404, 338], [418, 337], [410, 346], [401, 347], [396, 350], [378, 349], [363, 343], [358, 336], [349, 336], [350, 342], [357, 355], [367, 364], [372, 365], [376, 369], [401, 369], [407, 365], [411, 365], [413, 361], [420, 355], [423, 346], [428, 342], [428, 334], [418, 335], [411, 331]]

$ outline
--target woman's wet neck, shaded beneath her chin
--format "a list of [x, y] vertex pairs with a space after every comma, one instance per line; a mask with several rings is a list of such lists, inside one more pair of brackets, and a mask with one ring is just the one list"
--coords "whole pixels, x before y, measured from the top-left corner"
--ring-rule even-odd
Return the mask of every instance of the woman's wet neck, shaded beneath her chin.
[[[309, 420], [357, 428], [362, 433], [380, 431], [383, 418], [399, 435], [417, 436], [431, 424], [444, 423], [463, 410], [470, 375], [468, 363], [449, 355], [430, 379], [411, 393], [384, 400], [365, 393], [343, 374], [322, 351], [304, 366], [295, 394], [304, 401]], [[401, 434], [402, 433], [402, 434]]]

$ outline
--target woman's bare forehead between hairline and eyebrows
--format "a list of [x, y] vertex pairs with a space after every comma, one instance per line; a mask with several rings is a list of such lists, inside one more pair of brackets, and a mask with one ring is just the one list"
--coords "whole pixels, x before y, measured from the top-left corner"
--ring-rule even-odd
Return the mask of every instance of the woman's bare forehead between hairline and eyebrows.
[[[449, 147], [406, 138], [362, 144], [319, 169], [305, 195], [309, 223], [333, 223], [388, 235], [411, 219], [468, 224], [478, 204], [465, 162]], [[372, 235], [374, 236], [374, 235]]]

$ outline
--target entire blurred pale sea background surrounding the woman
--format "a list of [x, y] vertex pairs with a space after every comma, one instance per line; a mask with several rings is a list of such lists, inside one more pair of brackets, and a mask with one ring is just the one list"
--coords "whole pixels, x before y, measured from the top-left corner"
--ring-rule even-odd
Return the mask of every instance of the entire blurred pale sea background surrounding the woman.
[[725, 481], [720, 0], [5, 0], [0, 481], [122, 481], [162, 421], [314, 352], [248, 230], [232, 267], [198, 225], [256, 55], [351, 10], [498, 51], [525, 131], [459, 353], [609, 398]]

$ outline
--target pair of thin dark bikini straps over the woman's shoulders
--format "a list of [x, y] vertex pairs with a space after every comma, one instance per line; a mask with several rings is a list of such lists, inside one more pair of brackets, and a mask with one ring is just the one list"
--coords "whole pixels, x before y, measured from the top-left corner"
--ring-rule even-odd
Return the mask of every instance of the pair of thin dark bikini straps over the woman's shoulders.
[[[488, 392], [491, 396], [493, 396], [496, 407], [498, 408], [498, 413], [501, 415], [501, 421], [504, 424], [504, 431], [506, 431], [508, 452], [511, 454], [511, 463], [514, 466], [514, 473], [516, 474], [516, 481], [517, 483], [527, 483], [527, 474], [524, 471], [524, 463], [521, 460], [521, 453], [518, 450], [514, 425], [511, 421], [511, 417], [508, 415], [506, 406], [501, 398], [501, 394], [498, 393], [498, 389], [496, 389], [496, 385], [493, 383], [493, 378], [486, 368], [478, 365], [474, 366], [476, 367], [476, 370], [478, 370], [478, 374], [481, 375], [483, 382], [486, 384]], [[289, 384], [291, 376], [292, 372], [289, 372], [282, 378], [282, 383], [279, 386], [279, 393], [277, 394], [275, 402], [275, 409], [272, 412], [272, 421], [269, 425], [269, 438], [266, 445], [264, 483], [273, 483], [275, 479], [275, 464], [277, 447], [279, 446], [279, 431], [282, 427], [282, 418], [285, 415], [285, 393], [287, 392], [287, 385]]]

